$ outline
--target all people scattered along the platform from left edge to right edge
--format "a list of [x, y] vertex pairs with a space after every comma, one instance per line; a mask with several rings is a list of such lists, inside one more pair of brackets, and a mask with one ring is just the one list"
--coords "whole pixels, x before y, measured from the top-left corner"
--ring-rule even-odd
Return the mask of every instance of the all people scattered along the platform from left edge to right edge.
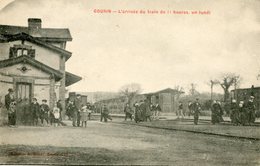
[[[8, 94], [5, 96], [5, 107], [8, 111], [8, 124], [16, 126], [17, 120], [17, 103], [14, 97], [13, 89], [8, 89]], [[133, 109], [132, 109], [133, 108]], [[23, 105], [20, 105], [19, 112], [20, 120], [24, 125], [43, 126], [44, 124], [58, 126], [62, 124], [61, 112], [63, 111], [61, 101], [54, 104], [53, 109], [50, 109], [47, 100], [43, 99], [41, 104], [37, 98], [33, 98], [32, 102], [25, 99]], [[194, 116], [194, 124], [198, 124], [199, 115], [202, 107], [197, 98], [194, 102], [188, 102], [188, 116]], [[74, 127], [87, 126], [87, 120], [90, 119], [93, 111], [90, 103], [82, 103], [81, 96], [78, 94], [75, 99], [68, 100], [66, 103], [66, 115], [69, 120], [72, 120]], [[133, 107], [128, 103], [124, 107], [125, 120], [130, 119], [138, 122], [158, 120], [162, 109], [158, 103], [151, 104], [149, 100], [140, 100], [135, 102]], [[211, 104], [211, 123], [217, 124], [224, 122], [223, 115], [225, 110], [222, 108], [221, 102], [214, 100]], [[226, 111], [227, 112], [227, 111]], [[232, 100], [230, 105], [230, 119], [233, 125], [252, 125], [255, 122], [256, 106], [254, 96], [250, 96], [249, 100], [239, 101]], [[184, 119], [186, 111], [183, 109], [183, 102], [179, 102], [177, 109], [177, 118]], [[107, 122], [112, 120], [109, 115], [109, 109], [104, 104], [101, 108], [100, 121]]]

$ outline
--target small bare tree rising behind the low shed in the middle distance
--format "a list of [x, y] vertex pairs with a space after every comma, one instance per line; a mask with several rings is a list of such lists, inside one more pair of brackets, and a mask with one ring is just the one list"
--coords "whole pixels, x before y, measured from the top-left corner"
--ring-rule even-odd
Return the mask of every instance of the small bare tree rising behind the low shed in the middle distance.
[[119, 90], [119, 94], [126, 97], [127, 103], [131, 103], [132, 99], [141, 93], [141, 85], [137, 83], [126, 84]]

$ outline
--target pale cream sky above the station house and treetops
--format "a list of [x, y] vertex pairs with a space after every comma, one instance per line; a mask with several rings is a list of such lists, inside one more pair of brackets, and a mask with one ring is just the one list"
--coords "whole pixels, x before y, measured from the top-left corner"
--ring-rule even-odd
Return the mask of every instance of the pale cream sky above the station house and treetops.
[[83, 77], [70, 91], [118, 91], [134, 82], [143, 92], [177, 85], [187, 92], [191, 83], [209, 92], [209, 80], [224, 73], [239, 74], [241, 88], [260, 86], [259, 10], [258, 0], [1, 0], [0, 24], [27, 26], [28, 18], [41, 18], [42, 27], [69, 28], [66, 70]]

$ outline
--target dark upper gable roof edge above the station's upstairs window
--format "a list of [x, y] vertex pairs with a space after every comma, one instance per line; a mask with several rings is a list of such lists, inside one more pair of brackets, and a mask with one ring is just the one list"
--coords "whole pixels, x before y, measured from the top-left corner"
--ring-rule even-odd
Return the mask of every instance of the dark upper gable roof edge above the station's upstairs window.
[[16, 40], [26, 40], [26, 41], [32, 42], [34, 44], [43, 46], [45, 48], [51, 49], [51, 50], [65, 56], [66, 60], [68, 60], [72, 55], [72, 53], [69, 52], [69, 51], [66, 51], [62, 48], [56, 47], [56, 46], [49, 44], [45, 41], [39, 40], [39, 39], [32, 37], [32, 36], [30, 36], [30, 35], [28, 35], [24, 32], [14, 34], [14, 35], [3, 35], [3, 36], [5, 37], [5, 42], [16, 41]]

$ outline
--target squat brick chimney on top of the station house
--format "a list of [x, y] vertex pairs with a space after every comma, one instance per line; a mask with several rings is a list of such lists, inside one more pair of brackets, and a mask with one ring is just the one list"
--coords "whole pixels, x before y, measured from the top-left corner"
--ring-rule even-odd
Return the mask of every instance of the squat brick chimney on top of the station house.
[[28, 19], [29, 35], [40, 37], [40, 29], [42, 28], [42, 20], [39, 18]]

